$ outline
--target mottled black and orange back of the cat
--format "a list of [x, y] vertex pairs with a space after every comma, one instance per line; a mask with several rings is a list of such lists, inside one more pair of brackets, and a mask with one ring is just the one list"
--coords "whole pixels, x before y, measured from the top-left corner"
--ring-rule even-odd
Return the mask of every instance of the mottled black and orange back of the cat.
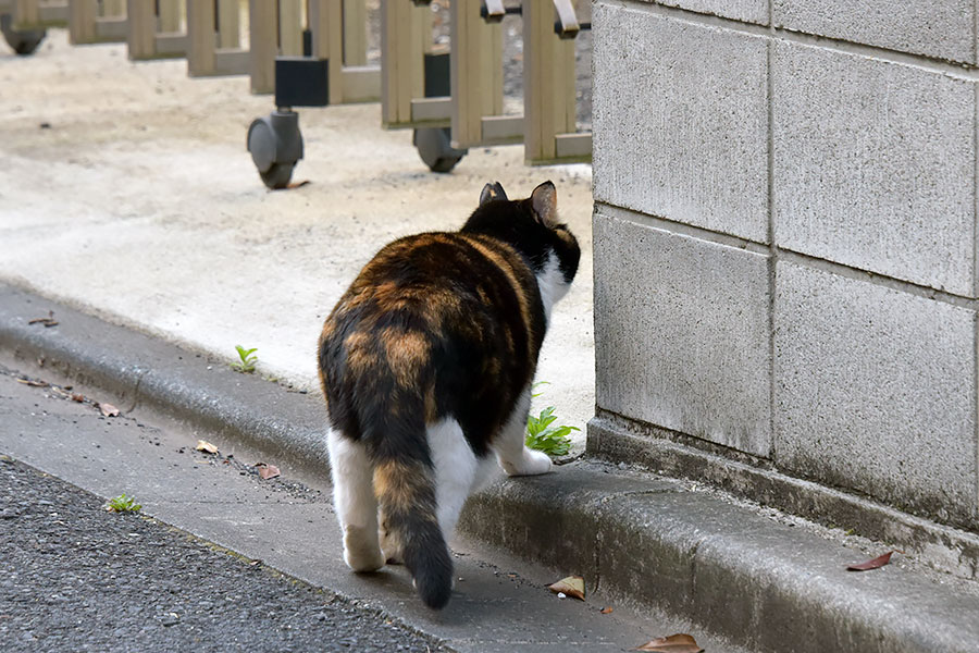
[[510, 401], [533, 375], [544, 330], [536, 280], [511, 246], [407, 236], [364, 266], [326, 319], [320, 379], [334, 417], [356, 412], [364, 393], [393, 393], [424, 397], [431, 420], [470, 401], [460, 394], [495, 387]]

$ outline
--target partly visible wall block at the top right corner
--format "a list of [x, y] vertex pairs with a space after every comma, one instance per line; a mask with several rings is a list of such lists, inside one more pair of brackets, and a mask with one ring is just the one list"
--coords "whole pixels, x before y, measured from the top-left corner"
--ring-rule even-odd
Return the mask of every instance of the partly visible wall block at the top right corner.
[[771, 0], [777, 27], [975, 63], [972, 0]]

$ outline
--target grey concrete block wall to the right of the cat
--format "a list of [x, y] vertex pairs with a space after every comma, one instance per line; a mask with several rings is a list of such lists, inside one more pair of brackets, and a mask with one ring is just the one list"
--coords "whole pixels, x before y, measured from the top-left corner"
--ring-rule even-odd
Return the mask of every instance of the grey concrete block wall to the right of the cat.
[[977, 4], [596, 0], [599, 415], [979, 531]]

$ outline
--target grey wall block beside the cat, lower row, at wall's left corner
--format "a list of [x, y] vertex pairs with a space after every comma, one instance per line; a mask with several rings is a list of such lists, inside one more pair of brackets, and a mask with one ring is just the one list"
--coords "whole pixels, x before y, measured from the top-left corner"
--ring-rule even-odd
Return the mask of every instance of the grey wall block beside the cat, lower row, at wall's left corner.
[[767, 456], [768, 256], [595, 214], [597, 404]]

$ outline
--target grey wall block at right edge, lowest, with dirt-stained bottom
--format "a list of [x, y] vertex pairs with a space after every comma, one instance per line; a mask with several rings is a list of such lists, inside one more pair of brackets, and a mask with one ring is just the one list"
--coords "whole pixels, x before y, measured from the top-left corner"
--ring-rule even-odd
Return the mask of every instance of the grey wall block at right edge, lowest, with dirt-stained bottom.
[[976, 523], [976, 312], [779, 261], [773, 458]]

